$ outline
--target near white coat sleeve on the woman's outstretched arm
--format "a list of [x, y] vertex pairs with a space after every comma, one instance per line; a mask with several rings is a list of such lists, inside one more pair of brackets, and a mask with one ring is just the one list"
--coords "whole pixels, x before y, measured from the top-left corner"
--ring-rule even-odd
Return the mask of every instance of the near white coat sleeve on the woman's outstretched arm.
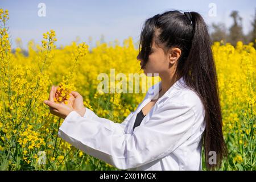
[[168, 102], [155, 110], [145, 125], [136, 127], [133, 134], [126, 134], [120, 124], [109, 119], [81, 117], [72, 111], [58, 135], [88, 155], [119, 169], [129, 169], [170, 154], [191, 137], [194, 123], [190, 106]]

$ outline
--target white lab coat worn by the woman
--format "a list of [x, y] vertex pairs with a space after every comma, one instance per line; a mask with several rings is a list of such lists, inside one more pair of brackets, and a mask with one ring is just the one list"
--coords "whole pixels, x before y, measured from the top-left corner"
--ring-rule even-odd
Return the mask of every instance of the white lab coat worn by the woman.
[[[122, 123], [98, 117], [86, 107], [84, 117], [72, 111], [59, 128], [59, 137], [119, 169], [201, 170], [204, 108], [183, 77], [155, 103], [141, 125], [137, 113], [158, 97], [161, 81]], [[157, 91], [157, 92], [156, 92]]]

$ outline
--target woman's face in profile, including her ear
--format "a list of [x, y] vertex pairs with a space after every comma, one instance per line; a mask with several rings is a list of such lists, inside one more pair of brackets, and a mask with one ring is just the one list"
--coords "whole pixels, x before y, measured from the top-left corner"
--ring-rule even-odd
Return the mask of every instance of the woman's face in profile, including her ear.
[[[152, 43], [151, 53], [148, 56], [148, 61], [146, 66], [143, 68], [144, 73], [147, 75], [148, 73], [158, 73], [155, 76], [167, 75], [174, 71], [177, 59], [180, 57], [180, 49], [172, 48], [169, 50], [167, 54], [164, 53], [163, 48], [158, 47], [155, 44], [155, 41]], [[141, 61], [141, 66], [143, 64], [143, 60], [140, 55], [137, 56], [137, 60]], [[147, 75], [150, 76], [150, 75]]]

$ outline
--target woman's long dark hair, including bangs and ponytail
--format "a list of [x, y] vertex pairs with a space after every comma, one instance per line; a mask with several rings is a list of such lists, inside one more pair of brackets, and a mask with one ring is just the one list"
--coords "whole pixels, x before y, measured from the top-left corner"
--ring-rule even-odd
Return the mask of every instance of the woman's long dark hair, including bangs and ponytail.
[[[177, 61], [176, 77], [184, 77], [189, 88], [195, 90], [203, 102], [206, 128], [203, 134], [205, 163], [208, 169], [221, 166], [227, 156], [222, 134], [222, 113], [216, 67], [207, 24], [199, 13], [190, 12], [192, 22], [180, 11], [166, 11], [148, 18], [143, 25], [139, 41], [139, 54], [143, 65], [147, 64], [152, 40], [164, 52], [171, 47], [181, 49]], [[209, 164], [210, 151], [217, 154], [217, 164]]]

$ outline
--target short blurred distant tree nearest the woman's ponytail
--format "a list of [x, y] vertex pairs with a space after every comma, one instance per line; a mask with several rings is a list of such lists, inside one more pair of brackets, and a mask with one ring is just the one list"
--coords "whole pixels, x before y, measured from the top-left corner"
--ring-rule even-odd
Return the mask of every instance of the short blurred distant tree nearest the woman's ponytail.
[[212, 23], [213, 31], [210, 34], [212, 42], [220, 42], [221, 40], [226, 43], [227, 34], [224, 23]]

